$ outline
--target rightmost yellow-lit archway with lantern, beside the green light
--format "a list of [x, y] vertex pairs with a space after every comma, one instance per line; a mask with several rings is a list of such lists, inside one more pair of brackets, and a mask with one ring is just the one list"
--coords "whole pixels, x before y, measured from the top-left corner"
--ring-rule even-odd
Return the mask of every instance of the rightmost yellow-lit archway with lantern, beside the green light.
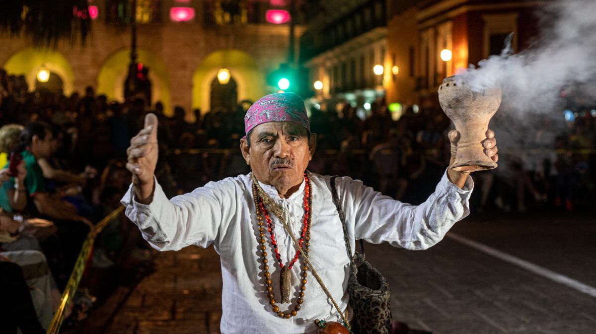
[[211, 85], [220, 68], [230, 71], [237, 84], [237, 103], [243, 99], [256, 101], [265, 95], [265, 75], [254, 58], [244, 51], [226, 49], [207, 55], [193, 75], [193, 109], [204, 114], [211, 108]]

